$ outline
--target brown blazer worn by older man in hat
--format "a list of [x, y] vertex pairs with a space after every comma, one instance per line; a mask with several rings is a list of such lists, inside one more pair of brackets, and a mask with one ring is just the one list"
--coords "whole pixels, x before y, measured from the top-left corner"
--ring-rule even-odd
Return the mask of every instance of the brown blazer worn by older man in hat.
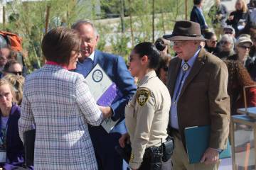
[[[176, 57], [169, 63], [167, 87], [171, 98], [181, 61]], [[185, 128], [210, 125], [210, 147], [225, 149], [230, 123], [227, 86], [228, 69], [225, 63], [202, 48], [183, 84], [177, 103], [178, 126], [184, 146]]]

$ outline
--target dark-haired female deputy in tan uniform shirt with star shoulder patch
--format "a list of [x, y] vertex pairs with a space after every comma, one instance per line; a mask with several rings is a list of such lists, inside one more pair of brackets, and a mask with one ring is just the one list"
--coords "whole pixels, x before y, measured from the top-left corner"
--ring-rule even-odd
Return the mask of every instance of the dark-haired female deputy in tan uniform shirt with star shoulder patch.
[[[134, 47], [129, 58], [132, 76], [138, 77], [137, 94], [125, 108], [125, 124], [129, 132], [132, 169], [151, 169], [152, 149], [161, 153], [161, 142], [166, 142], [171, 97], [164, 83], [156, 77], [160, 53], [151, 42]], [[161, 156], [155, 162], [161, 169]], [[151, 160], [150, 160], [151, 159]]]

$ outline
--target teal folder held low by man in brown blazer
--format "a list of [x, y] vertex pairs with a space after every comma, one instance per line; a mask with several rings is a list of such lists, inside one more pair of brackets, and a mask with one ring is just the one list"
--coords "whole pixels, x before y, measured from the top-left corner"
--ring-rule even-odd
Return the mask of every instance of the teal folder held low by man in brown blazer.
[[[209, 147], [210, 125], [185, 128], [184, 132], [189, 164], [199, 163], [203, 157], [203, 153]], [[224, 159], [228, 157], [231, 157], [229, 141], [227, 148], [220, 153], [219, 158]]]

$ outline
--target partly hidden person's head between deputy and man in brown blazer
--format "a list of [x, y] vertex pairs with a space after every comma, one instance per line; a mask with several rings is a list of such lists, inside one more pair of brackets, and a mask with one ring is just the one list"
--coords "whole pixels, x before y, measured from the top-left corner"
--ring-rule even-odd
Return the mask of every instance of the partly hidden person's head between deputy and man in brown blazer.
[[156, 76], [166, 85], [168, 64], [171, 61], [171, 57], [162, 57], [159, 63], [159, 67], [156, 69]]

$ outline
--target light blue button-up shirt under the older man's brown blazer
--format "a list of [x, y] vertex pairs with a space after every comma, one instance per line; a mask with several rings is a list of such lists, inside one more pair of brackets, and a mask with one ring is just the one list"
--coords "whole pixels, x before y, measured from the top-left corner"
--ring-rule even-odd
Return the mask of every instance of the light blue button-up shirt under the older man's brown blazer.
[[[191, 57], [191, 59], [188, 60], [188, 70], [186, 71], [183, 79], [181, 80], [181, 77], [182, 77], [182, 74], [183, 74], [183, 70], [181, 69], [181, 67], [183, 66], [183, 64], [185, 63], [184, 60], [182, 60], [181, 62], [181, 67], [180, 67], [180, 72], [178, 73], [178, 77], [177, 77], [177, 81], [176, 81], [176, 84], [175, 84], [175, 89], [174, 89], [174, 95], [172, 97], [172, 101], [171, 102], [171, 110], [170, 110], [170, 125], [172, 128], [175, 128], [175, 129], [178, 129], [178, 117], [177, 117], [177, 102], [178, 102], [178, 97], [180, 96], [181, 94], [181, 89], [182, 89], [182, 86], [184, 84], [184, 82], [186, 81], [186, 78], [188, 77], [188, 74], [191, 72], [191, 68], [193, 67], [193, 63], [196, 61], [196, 57], [198, 56], [198, 53], [200, 52], [201, 50], [201, 47], [199, 47], [199, 49], [196, 51], [195, 55], [193, 55], [193, 57]], [[179, 91], [178, 91], [178, 86], [181, 82], [181, 87], [179, 88]], [[178, 96], [176, 97], [178, 93]], [[176, 100], [175, 100], [176, 98]]]

